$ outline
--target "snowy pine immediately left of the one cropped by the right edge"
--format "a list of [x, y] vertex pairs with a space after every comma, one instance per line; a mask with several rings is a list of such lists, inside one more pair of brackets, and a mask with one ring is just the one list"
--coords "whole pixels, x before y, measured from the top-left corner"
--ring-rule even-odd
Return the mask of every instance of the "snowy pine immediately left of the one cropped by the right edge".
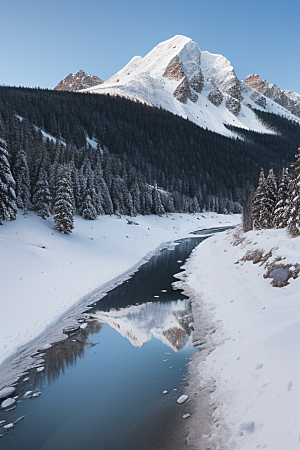
[[288, 221], [288, 210], [290, 203], [290, 183], [288, 168], [282, 170], [281, 181], [278, 186], [278, 197], [274, 210], [274, 227], [285, 228]]

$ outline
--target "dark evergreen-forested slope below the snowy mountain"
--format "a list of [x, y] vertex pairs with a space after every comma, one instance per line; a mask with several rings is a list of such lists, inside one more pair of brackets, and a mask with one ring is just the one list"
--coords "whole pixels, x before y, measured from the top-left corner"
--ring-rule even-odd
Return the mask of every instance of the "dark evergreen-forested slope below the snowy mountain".
[[[240, 212], [257, 185], [260, 168], [267, 171], [272, 166], [279, 174], [294, 159], [300, 142], [299, 124], [255, 112], [275, 134], [234, 129], [237, 137], [228, 138], [121, 97], [0, 87], [0, 137], [6, 141], [13, 172], [23, 150], [31, 198], [41, 169], [49, 177], [53, 196], [52, 178], [58, 173], [54, 166], [72, 162], [77, 175], [70, 177], [79, 213], [90, 170], [93, 176], [97, 170], [98, 178], [103, 176], [112, 202], [107, 206], [106, 199], [105, 207], [102, 200], [97, 213]], [[41, 130], [57, 138], [56, 143], [45, 139]], [[87, 137], [99, 143], [98, 149], [87, 143]], [[125, 197], [116, 198], [120, 190]]]

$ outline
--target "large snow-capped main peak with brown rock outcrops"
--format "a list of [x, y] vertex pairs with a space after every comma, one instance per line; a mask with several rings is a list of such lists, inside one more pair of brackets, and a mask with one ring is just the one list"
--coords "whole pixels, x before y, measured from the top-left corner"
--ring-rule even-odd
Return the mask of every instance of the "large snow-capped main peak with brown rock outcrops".
[[200, 50], [185, 36], [157, 45], [144, 58], [135, 56], [101, 85], [84, 90], [139, 100], [188, 118], [203, 128], [232, 135], [224, 125], [270, 132], [252, 108], [299, 120], [268, 97], [240, 81], [222, 55]]

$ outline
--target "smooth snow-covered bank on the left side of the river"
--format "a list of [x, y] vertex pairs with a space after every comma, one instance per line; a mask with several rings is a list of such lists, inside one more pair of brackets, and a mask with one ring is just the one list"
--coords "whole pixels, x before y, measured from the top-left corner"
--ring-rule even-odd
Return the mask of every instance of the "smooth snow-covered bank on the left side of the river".
[[139, 225], [128, 225], [125, 217], [76, 217], [75, 230], [65, 236], [54, 230], [52, 219], [29, 212], [0, 227], [0, 361], [6, 359], [1, 384], [15, 369], [36, 364], [33, 351], [65, 338], [63, 327], [87, 304], [128, 278], [166, 242], [195, 229], [236, 224], [239, 217], [168, 214], [133, 220]]

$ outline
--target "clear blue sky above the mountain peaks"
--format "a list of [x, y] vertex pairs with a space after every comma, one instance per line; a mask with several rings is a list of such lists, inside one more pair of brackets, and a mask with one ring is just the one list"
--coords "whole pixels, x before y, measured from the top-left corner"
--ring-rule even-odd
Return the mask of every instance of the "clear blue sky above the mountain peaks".
[[0, 84], [53, 88], [82, 69], [107, 80], [183, 34], [300, 93], [300, 0], [0, 0]]

